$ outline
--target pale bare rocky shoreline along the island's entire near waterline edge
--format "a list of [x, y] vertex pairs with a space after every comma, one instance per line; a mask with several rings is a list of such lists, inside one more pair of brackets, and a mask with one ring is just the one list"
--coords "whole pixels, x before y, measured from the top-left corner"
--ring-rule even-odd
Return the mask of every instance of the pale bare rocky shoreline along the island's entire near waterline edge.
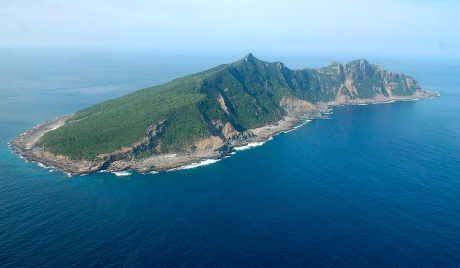
[[[58, 117], [43, 122], [12, 140], [9, 145], [12, 146], [13, 150], [24, 157], [27, 161], [40, 163], [46, 167], [57, 168], [68, 173], [70, 176], [85, 175], [104, 170], [113, 172], [136, 170], [139, 173], [148, 173], [152, 171], [159, 172], [179, 169], [202, 161], [217, 160], [229, 156], [235, 151], [235, 148], [247, 146], [251, 143], [264, 142], [280, 132], [292, 130], [301, 120], [325, 118], [327, 113], [330, 111], [330, 106], [386, 103], [401, 100], [426, 99], [435, 96], [439, 96], [439, 93], [431, 91], [417, 91], [414, 95], [402, 97], [380, 96], [375, 99], [335, 100], [315, 105], [316, 110], [314, 114], [311, 113], [311, 110], [300, 111], [299, 113], [290, 113], [289, 116], [276, 122], [275, 124], [238, 133], [238, 135], [229, 138], [218, 148], [206, 148], [193, 153], [154, 155], [142, 159], [127, 159], [126, 152], [119, 152], [118, 154], [111, 155], [105, 161], [71, 160], [65, 156], [53, 155], [36, 145], [40, 137], [42, 137], [47, 131], [54, 130], [64, 125], [65, 121], [72, 117], [72, 115]], [[307, 117], [305, 116], [306, 114], [310, 116]]]

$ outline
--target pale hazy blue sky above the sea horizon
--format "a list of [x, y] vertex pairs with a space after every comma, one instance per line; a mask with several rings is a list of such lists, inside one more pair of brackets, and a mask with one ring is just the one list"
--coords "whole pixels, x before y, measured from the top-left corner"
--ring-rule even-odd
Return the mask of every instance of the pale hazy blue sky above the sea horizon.
[[0, 0], [0, 47], [460, 56], [457, 0]]

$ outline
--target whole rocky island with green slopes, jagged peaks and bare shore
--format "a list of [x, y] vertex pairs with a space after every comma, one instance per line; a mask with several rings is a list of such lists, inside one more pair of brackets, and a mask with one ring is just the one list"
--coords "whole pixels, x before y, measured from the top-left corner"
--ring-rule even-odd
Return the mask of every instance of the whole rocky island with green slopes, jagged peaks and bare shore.
[[44, 122], [10, 142], [71, 175], [169, 170], [229, 155], [330, 106], [429, 98], [417, 81], [356, 60], [291, 70], [252, 54]]

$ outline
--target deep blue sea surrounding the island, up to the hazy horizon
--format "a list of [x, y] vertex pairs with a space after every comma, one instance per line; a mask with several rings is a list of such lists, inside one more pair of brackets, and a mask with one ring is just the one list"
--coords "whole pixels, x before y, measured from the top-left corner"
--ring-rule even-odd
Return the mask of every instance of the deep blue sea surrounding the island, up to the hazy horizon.
[[[252, 52], [293, 69], [359, 58]], [[0, 267], [460, 267], [459, 59], [370, 55], [441, 97], [333, 107], [182, 170], [69, 177], [8, 146], [48, 119], [244, 56], [0, 50]]]

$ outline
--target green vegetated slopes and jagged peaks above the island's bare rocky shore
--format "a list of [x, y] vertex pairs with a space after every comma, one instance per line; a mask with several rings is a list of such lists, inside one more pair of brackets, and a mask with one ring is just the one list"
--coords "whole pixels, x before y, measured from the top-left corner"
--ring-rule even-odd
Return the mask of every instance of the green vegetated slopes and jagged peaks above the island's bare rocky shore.
[[[346, 75], [352, 76], [357, 95], [342, 87]], [[342, 90], [350, 98], [373, 98], [387, 94], [383, 77], [392, 83], [395, 95], [420, 89], [416, 82], [409, 86], [406, 77], [363, 60], [292, 71], [280, 62], [267, 63], [248, 54], [235, 63], [78, 111], [64, 126], [47, 132], [39, 145], [72, 159], [94, 160], [132, 146], [148, 136], [149, 127], [163, 123], [165, 130], [155, 137], [156, 143], [136, 152], [137, 157], [193, 151], [197, 141], [219, 136], [215, 124], [229, 122], [244, 131], [282, 119], [286, 111], [279, 105], [285, 96], [327, 102]]]

